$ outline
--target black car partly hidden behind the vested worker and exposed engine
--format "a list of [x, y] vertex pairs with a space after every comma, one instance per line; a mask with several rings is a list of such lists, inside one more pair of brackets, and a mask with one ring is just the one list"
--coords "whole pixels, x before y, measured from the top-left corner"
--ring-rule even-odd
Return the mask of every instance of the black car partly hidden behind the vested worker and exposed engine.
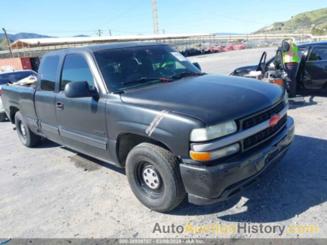
[[[298, 45], [299, 65], [297, 70], [298, 89], [327, 88], [327, 41]], [[258, 65], [236, 68], [231, 75], [243, 77], [261, 66], [263, 70], [274, 70], [275, 57]]]

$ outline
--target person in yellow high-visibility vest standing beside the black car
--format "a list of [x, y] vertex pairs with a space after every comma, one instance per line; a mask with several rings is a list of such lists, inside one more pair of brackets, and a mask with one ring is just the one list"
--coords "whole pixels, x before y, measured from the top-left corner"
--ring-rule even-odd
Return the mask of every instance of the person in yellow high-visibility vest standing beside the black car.
[[296, 73], [298, 67], [298, 48], [292, 40], [283, 40], [282, 58], [290, 80], [290, 97], [296, 95]]

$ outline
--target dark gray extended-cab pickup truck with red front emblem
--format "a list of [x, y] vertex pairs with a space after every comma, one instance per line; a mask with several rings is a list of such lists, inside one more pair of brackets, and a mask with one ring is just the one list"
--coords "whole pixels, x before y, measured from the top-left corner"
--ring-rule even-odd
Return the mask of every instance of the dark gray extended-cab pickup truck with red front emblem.
[[35, 87], [4, 86], [2, 99], [24, 145], [45, 137], [126, 168], [138, 200], [159, 212], [186, 193], [199, 205], [231, 197], [294, 138], [282, 87], [204, 74], [160, 43], [50, 52]]

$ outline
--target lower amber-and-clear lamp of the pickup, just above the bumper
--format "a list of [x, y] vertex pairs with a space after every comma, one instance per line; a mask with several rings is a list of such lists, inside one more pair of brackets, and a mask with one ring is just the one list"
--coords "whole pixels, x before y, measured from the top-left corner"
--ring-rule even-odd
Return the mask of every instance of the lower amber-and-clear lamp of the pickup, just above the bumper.
[[212, 152], [193, 152], [190, 151], [190, 157], [196, 161], [210, 161], [218, 158], [226, 157], [240, 151], [240, 144], [231, 144], [224, 148]]

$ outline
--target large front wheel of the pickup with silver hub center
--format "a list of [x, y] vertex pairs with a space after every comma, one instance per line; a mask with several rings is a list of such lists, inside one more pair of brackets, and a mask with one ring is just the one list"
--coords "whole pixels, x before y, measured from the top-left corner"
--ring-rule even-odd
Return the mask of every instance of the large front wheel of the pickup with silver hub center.
[[[145, 179], [145, 175], [149, 170], [151, 176], [154, 173], [157, 179], [146, 184], [148, 180]], [[150, 143], [136, 145], [127, 156], [126, 175], [136, 198], [154, 211], [169, 212], [185, 198], [179, 159], [158, 145]], [[150, 187], [149, 184], [156, 184], [156, 180], [158, 186]]]

